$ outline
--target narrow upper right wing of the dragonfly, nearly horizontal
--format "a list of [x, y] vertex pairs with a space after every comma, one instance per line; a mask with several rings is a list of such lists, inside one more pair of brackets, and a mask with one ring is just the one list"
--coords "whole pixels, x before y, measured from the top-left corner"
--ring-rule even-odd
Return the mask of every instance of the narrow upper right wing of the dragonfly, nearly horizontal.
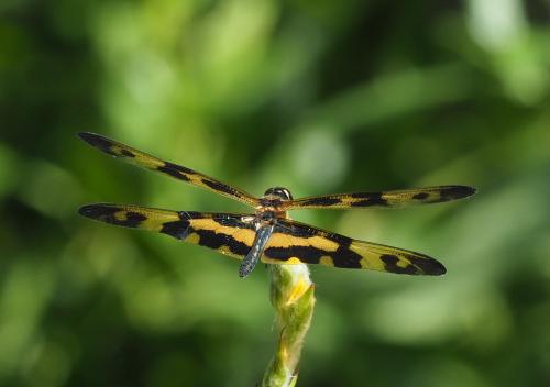
[[284, 210], [297, 209], [345, 209], [345, 208], [394, 208], [410, 204], [440, 203], [466, 198], [475, 194], [468, 186], [438, 186], [381, 192], [337, 194], [289, 200], [282, 203]]

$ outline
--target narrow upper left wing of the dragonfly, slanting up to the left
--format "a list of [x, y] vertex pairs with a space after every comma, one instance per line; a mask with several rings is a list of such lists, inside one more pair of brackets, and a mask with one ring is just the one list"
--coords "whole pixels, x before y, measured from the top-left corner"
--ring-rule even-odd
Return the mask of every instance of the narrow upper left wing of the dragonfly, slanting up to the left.
[[89, 132], [78, 133], [78, 136], [91, 146], [127, 163], [136, 165], [145, 169], [160, 172], [170, 177], [175, 177], [176, 179], [208, 189], [210, 191], [241, 201], [252, 207], [256, 207], [260, 203], [260, 200], [257, 198], [243, 190], [221, 183], [212, 177], [202, 175], [190, 168], [170, 162], [164, 162], [118, 141]]

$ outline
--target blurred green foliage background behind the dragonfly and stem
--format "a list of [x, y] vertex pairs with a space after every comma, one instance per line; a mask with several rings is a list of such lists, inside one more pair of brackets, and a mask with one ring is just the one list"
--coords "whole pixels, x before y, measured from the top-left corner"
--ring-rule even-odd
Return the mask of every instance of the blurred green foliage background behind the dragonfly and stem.
[[311, 267], [298, 385], [550, 385], [549, 103], [544, 0], [0, 1], [0, 385], [254, 386], [274, 350], [263, 266], [76, 213], [243, 207], [78, 131], [255, 195], [477, 187], [292, 214], [449, 270]]

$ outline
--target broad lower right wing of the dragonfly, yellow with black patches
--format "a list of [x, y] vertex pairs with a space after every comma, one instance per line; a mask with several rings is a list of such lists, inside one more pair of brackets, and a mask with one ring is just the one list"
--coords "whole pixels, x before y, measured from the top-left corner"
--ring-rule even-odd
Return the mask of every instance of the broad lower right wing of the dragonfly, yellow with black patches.
[[442, 275], [438, 261], [411, 251], [356, 241], [292, 220], [277, 220], [264, 250], [265, 263], [306, 263], [413, 275]]

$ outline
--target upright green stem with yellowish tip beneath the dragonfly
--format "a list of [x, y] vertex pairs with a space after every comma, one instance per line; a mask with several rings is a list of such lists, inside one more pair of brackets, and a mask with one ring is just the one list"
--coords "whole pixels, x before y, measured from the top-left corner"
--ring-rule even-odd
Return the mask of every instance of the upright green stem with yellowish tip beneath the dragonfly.
[[301, 346], [314, 314], [315, 285], [304, 264], [270, 265], [270, 276], [278, 343], [262, 386], [292, 387], [298, 378]]

